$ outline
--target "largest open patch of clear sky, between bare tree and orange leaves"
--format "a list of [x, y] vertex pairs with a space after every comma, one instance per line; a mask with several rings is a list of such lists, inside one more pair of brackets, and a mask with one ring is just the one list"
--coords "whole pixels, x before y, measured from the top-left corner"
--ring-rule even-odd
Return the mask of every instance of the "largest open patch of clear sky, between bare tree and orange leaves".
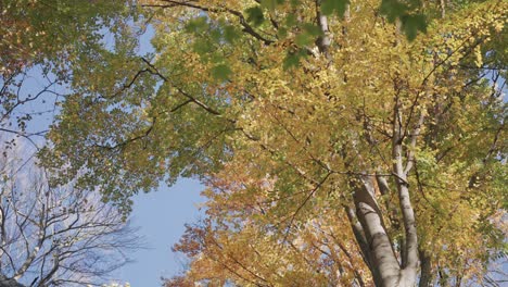
[[183, 270], [185, 258], [172, 252], [172, 246], [183, 234], [185, 224], [196, 222], [200, 192], [198, 180], [180, 178], [175, 186], [135, 197], [132, 225], [140, 226], [149, 249], [132, 254], [135, 263], [118, 271], [118, 277], [132, 287], [161, 286], [161, 277], [170, 277]]

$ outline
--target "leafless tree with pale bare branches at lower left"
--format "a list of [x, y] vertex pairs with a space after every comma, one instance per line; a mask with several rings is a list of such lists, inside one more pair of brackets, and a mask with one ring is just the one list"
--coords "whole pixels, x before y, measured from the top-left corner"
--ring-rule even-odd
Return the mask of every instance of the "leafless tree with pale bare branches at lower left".
[[9, 152], [0, 166], [2, 280], [101, 286], [141, 247], [140, 238], [98, 191], [50, 186], [47, 171], [20, 155]]

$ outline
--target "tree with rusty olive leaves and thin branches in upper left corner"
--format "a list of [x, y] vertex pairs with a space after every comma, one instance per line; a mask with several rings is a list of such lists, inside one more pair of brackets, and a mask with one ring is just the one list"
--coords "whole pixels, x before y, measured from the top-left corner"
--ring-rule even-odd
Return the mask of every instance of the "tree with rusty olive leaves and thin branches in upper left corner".
[[[2, 1], [0, 130], [30, 140], [42, 136], [43, 130], [27, 132], [27, 125], [47, 110], [58, 110], [65, 98], [60, 90], [69, 88], [71, 63], [79, 62], [90, 51], [104, 52], [104, 43], [114, 45], [117, 50], [134, 45], [136, 39], [129, 34], [135, 32], [128, 23], [137, 20], [135, 8], [128, 0]], [[106, 41], [104, 35], [115, 41]], [[126, 35], [128, 43], [123, 42]], [[29, 104], [41, 109], [24, 109]]]

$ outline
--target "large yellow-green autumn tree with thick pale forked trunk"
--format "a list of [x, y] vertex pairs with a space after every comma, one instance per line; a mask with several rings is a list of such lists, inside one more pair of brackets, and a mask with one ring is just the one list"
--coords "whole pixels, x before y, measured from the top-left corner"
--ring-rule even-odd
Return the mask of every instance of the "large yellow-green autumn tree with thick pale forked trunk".
[[156, 57], [75, 77], [45, 164], [125, 211], [202, 178], [169, 286], [482, 282], [506, 252], [506, 1], [423, 2], [412, 41], [379, 1], [257, 2], [147, 1]]

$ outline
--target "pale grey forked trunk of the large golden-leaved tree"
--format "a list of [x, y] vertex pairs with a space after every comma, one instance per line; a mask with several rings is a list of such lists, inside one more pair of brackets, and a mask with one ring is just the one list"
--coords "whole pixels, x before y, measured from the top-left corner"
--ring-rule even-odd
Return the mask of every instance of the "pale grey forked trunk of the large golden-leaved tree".
[[[409, 145], [411, 147], [416, 145], [423, 120], [424, 116], [420, 115], [416, 126], [411, 130], [412, 133], [409, 138]], [[403, 144], [407, 130], [405, 130], [402, 123], [401, 102], [398, 96], [396, 96], [392, 129], [392, 174], [395, 178], [394, 182], [398, 195], [398, 209], [402, 213], [405, 235], [405, 238], [399, 242], [401, 263], [392, 247], [392, 240], [383, 223], [382, 212], [376, 201], [374, 183], [377, 183], [381, 194], [385, 195], [390, 192], [388, 182], [380, 176], [366, 175], [359, 178], [357, 183], [352, 184], [352, 187], [354, 187], [353, 197], [356, 215], [368, 245], [365, 251], [365, 258], [370, 262], [369, 264], [377, 286], [409, 287], [415, 286], [417, 282], [419, 264], [418, 236], [415, 211], [410, 201], [409, 184], [407, 180], [407, 175], [414, 165], [415, 155], [410, 151], [406, 154], [406, 158], [403, 155]], [[404, 160], [406, 160], [406, 165], [404, 165]], [[354, 229], [356, 228], [355, 226], [353, 227]], [[360, 244], [360, 241], [358, 242]], [[426, 265], [424, 267], [428, 269], [429, 266]]]

